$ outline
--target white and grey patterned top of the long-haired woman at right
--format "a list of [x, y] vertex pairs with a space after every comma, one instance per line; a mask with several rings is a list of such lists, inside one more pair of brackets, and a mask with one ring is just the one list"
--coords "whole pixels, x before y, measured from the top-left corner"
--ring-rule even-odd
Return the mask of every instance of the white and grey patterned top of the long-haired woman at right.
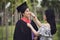
[[38, 33], [40, 34], [40, 40], [52, 40], [51, 29], [46, 25], [42, 25]]

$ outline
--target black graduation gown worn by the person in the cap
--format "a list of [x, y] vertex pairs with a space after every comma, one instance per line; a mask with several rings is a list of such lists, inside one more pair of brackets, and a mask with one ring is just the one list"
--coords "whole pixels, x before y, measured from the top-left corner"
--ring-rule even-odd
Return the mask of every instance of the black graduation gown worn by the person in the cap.
[[[31, 24], [35, 30], [38, 30], [33, 21], [31, 21]], [[18, 20], [16, 23], [13, 40], [32, 40], [31, 29], [27, 27], [23, 20]]]

